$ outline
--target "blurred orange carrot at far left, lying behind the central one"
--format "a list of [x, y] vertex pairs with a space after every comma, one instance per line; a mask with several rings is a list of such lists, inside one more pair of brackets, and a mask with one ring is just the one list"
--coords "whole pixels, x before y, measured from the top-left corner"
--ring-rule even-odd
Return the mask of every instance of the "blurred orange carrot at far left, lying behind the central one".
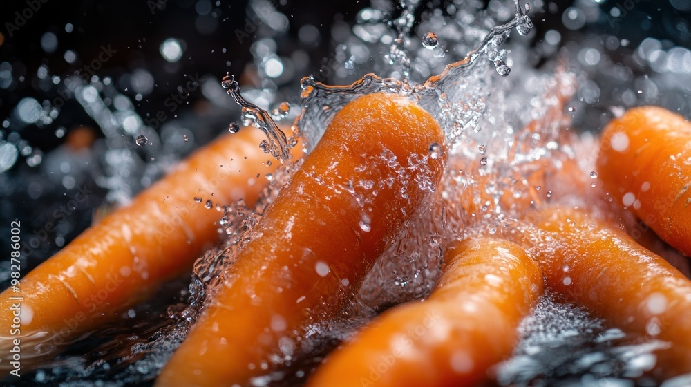
[[[257, 175], [273, 170], [262, 165], [267, 155], [258, 149], [261, 138], [247, 129], [200, 149], [29, 272], [20, 292], [0, 294], [0, 326], [6, 329], [0, 369], [13, 369], [8, 348], [15, 339], [21, 342], [21, 365], [28, 368], [28, 359], [55, 352], [189, 270], [218, 239], [215, 223], [222, 216], [195, 197], [252, 204], [263, 187]], [[12, 325], [17, 327], [10, 333]]]

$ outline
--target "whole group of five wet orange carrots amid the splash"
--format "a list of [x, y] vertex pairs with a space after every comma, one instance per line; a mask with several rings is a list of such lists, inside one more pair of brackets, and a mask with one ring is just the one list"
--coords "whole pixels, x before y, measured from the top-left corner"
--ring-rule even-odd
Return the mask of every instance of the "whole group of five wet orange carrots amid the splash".
[[[214, 243], [219, 217], [190, 200], [213, 193], [220, 202], [254, 201], [261, 187], [247, 180], [265, 157], [252, 151], [256, 142], [250, 134], [218, 140], [22, 279], [23, 337], [35, 351], [54, 352], [57, 337], [93, 329], [189, 269]], [[691, 253], [688, 122], [660, 108], [634, 109], [609, 124], [602, 144], [598, 172], [609, 195]], [[439, 124], [405, 97], [376, 93], [345, 106], [267, 207], [157, 385], [266, 384], [299, 361], [310, 327], [337, 315], [402, 225], [428, 208], [445, 155]], [[691, 372], [691, 281], [583, 209], [527, 214], [533, 228], [524, 246], [501, 236], [448, 246], [426, 301], [375, 318], [307, 385], [482, 384], [511, 354], [518, 324], [545, 288], [620, 328], [673, 342], [661, 354], [660, 377]], [[0, 295], [6, 325], [10, 296]], [[11, 341], [2, 339], [5, 355]]]

